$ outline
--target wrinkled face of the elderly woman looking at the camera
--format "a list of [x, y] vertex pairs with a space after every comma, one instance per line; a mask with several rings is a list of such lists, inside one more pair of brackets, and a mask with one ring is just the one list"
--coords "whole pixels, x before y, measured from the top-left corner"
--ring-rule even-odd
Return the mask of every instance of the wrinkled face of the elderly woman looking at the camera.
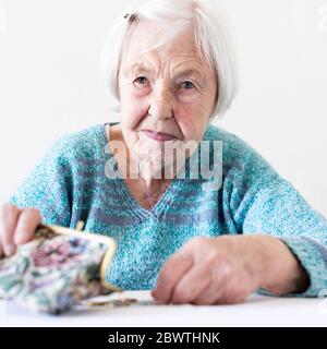
[[[217, 93], [215, 70], [201, 60], [191, 27], [146, 51], [144, 43], [156, 31], [150, 22], [136, 24], [119, 72], [123, 137], [129, 151], [148, 164], [158, 161], [167, 142], [182, 148], [189, 141], [202, 140]], [[158, 139], [147, 131], [170, 137]]]

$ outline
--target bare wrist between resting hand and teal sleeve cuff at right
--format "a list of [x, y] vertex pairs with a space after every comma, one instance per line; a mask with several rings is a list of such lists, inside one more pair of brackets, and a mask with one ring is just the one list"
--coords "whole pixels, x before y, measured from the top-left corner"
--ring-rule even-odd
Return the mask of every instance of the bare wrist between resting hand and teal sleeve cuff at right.
[[301, 293], [310, 277], [287, 244], [272, 236], [255, 236], [262, 256], [259, 288], [276, 294]]

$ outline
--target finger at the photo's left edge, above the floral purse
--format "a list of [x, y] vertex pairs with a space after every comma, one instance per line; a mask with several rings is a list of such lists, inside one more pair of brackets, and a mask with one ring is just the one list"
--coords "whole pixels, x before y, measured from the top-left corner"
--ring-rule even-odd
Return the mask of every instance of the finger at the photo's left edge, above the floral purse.
[[20, 213], [21, 210], [10, 203], [7, 203], [1, 207], [0, 236], [2, 249], [7, 256], [12, 255], [16, 249], [13, 242], [13, 233]]

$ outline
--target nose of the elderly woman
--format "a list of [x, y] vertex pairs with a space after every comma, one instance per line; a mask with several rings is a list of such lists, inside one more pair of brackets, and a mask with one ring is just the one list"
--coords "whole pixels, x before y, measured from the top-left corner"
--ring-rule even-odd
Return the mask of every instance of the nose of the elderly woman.
[[173, 96], [168, 88], [161, 87], [155, 91], [150, 98], [149, 115], [158, 119], [172, 118]]

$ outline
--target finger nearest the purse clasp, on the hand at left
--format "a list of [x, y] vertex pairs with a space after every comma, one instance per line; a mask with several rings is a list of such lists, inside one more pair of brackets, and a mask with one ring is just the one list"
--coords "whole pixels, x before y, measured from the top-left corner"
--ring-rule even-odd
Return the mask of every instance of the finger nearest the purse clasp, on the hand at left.
[[14, 232], [14, 242], [16, 244], [26, 243], [35, 232], [36, 227], [41, 222], [41, 216], [38, 209], [26, 207], [21, 213], [17, 226]]

